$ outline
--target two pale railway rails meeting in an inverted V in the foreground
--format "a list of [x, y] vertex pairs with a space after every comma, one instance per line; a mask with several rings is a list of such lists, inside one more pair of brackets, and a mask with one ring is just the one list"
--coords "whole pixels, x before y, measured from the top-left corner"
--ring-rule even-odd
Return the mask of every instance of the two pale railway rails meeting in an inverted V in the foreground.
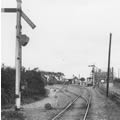
[[[71, 108], [71, 106], [79, 99], [83, 99], [85, 102], [86, 102], [86, 110], [85, 110], [85, 113], [82, 117], [82, 120], [86, 120], [87, 119], [87, 115], [88, 115], [88, 112], [89, 112], [89, 109], [90, 109], [90, 104], [91, 104], [91, 94], [90, 92], [88, 91], [87, 88], [84, 88], [87, 90], [88, 92], [88, 99], [86, 97], [83, 97], [81, 95], [78, 95], [77, 97], [75, 97], [74, 100], [72, 100], [61, 112], [59, 112], [56, 116], [54, 116], [51, 120], [58, 120], [58, 119], [62, 119], [64, 114]], [[80, 112], [80, 111], [79, 111]], [[79, 118], [81, 120], [81, 118]]]

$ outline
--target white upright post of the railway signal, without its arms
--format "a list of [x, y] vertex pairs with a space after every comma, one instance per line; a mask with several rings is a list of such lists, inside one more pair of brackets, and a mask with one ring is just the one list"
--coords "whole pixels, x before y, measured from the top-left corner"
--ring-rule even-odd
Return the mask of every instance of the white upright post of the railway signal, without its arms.
[[20, 95], [20, 79], [21, 79], [21, 51], [22, 47], [20, 44], [21, 36], [21, 0], [17, 0], [17, 25], [16, 25], [16, 56], [15, 56], [15, 66], [16, 66], [16, 83], [15, 83], [15, 109], [19, 110], [21, 105], [21, 95]]

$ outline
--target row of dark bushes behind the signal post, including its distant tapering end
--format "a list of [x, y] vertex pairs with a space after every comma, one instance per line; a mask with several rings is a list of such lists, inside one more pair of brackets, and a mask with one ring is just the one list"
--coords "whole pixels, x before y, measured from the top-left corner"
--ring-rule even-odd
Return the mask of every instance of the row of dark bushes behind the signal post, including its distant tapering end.
[[[48, 84], [57, 84], [56, 76], [63, 75], [62, 73], [43, 72], [38, 68], [33, 70], [26, 70], [22, 67], [21, 71], [21, 83], [20, 90], [22, 96], [22, 102], [26, 99], [38, 100], [41, 96], [45, 96], [45, 84], [47, 84], [47, 78], [45, 75], [50, 76]], [[60, 74], [60, 75], [58, 75]], [[59, 84], [61, 82], [59, 81]], [[14, 104], [15, 102], [15, 68], [2, 66], [1, 68], [1, 105]]]

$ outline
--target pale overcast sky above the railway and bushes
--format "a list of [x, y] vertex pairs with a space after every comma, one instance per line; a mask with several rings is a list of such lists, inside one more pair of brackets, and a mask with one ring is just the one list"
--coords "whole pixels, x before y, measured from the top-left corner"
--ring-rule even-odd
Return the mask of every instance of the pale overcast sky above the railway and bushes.
[[[2, 0], [2, 8], [15, 8], [16, 0]], [[90, 75], [88, 65], [107, 70], [109, 34], [112, 33], [111, 66], [120, 69], [119, 0], [23, 0], [22, 10], [37, 26], [22, 19], [22, 33], [29, 36], [22, 47], [26, 68]], [[16, 14], [1, 14], [1, 62], [15, 66]]]

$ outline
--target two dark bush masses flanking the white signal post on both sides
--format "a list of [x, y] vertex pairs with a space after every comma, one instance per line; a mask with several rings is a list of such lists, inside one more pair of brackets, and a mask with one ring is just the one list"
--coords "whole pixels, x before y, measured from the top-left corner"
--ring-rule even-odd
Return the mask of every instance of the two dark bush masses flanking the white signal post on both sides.
[[[44, 82], [41, 73], [36, 70], [25, 70], [21, 72], [21, 85], [25, 89], [21, 91], [22, 99], [33, 98], [36, 95], [45, 95]], [[1, 68], [1, 105], [14, 104], [15, 101], [15, 69], [2, 66]], [[35, 99], [38, 99], [35, 97]]]

